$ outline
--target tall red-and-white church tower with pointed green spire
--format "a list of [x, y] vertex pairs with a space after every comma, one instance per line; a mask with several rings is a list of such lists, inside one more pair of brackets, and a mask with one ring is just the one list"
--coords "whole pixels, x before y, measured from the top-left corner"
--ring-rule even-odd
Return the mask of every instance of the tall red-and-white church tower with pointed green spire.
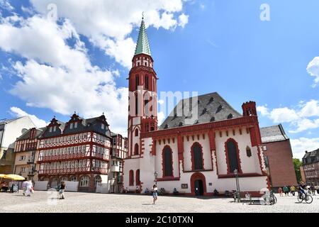
[[129, 157], [141, 154], [140, 133], [157, 130], [157, 74], [150, 52], [144, 18], [132, 60], [129, 80]]

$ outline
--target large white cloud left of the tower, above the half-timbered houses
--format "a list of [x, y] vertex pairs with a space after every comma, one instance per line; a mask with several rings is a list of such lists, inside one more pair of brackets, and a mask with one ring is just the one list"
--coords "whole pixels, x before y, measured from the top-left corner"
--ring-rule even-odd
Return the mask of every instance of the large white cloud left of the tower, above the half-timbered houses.
[[[46, 28], [46, 29], [43, 29]], [[128, 91], [117, 88], [113, 73], [91, 65], [83, 43], [67, 20], [60, 26], [46, 18], [33, 16], [16, 28], [11, 23], [0, 24], [0, 48], [26, 57], [25, 63], [13, 63], [13, 70], [21, 78], [11, 89], [28, 106], [52, 109], [69, 115], [74, 111], [83, 117], [106, 113], [111, 130], [126, 131], [125, 111]], [[68, 38], [76, 45], [69, 47]], [[28, 45], [25, 45], [28, 43]]]

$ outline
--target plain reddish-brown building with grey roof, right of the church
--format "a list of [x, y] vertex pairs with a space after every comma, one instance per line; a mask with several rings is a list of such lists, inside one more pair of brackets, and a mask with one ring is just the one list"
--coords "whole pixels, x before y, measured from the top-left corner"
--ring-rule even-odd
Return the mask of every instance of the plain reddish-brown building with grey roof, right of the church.
[[272, 188], [297, 185], [293, 153], [288, 136], [281, 124], [260, 128], [262, 135], [262, 150], [269, 173]]

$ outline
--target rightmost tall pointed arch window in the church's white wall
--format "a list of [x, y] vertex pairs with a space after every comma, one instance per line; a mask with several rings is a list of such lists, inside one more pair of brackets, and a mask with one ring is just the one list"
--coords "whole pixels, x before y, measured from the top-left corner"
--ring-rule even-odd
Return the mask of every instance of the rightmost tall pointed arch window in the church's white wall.
[[233, 139], [229, 139], [225, 144], [225, 148], [228, 173], [233, 173], [234, 170], [238, 170], [238, 172], [241, 172], [237, 142]]

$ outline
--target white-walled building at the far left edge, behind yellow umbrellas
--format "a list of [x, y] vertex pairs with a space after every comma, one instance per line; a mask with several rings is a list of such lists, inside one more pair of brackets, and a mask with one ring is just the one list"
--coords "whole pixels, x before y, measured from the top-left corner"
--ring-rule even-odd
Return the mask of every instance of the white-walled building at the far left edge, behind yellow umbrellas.
[[14, 153], [16, 138], [25, 133], [35, 124], [29, 116], [0, 121], [0, 172], [12, 174], [14, 171]]

